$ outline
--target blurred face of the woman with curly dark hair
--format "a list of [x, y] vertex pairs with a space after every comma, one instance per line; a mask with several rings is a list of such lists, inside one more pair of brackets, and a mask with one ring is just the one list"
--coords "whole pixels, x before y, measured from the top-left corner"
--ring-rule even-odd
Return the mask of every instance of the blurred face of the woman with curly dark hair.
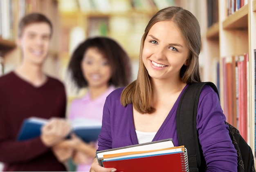
[[112, 72], [108, 60], [97, 48], [89, 48], [81, 63], [83, 77], [91, 88], [108, 87]]

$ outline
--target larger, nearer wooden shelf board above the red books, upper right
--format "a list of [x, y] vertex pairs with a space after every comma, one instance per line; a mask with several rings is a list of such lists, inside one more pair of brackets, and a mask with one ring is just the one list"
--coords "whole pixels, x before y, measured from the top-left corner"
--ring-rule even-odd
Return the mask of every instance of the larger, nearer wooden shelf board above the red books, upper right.
[[234, 14], [223, 21], [223, 29], [245, 29], [248, 28], [248, 4], [240, 8]]

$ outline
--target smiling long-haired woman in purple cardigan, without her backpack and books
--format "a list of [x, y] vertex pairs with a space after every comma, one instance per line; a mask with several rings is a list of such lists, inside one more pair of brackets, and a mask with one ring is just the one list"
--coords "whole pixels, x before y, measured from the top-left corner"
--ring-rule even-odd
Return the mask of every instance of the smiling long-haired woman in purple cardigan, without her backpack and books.
[[[181, 7], [158, 11], [141, 39], [137, 79], [106, 99], [98, 150], [168, 138], [179, 146], [177, 106], [187, 86], [201, 82], [199, 53], [200, 26], [195, 16]], [[206, 161], [198, 170], [236, 171], [236, 149], [218, 95], [210, 86], [202, 89], [198, 105], [198, 139]], [[110, 171], [115, 167], [103, 168], [97, 159], [90, 170]]]

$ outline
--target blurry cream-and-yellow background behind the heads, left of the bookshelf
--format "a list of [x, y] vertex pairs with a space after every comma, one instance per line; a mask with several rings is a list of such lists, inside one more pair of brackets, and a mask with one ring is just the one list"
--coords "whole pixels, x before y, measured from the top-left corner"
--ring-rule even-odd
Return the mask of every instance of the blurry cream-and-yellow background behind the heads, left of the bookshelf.
[[141, 37], [146, 24], [159, 9], [181, 6], [194, 13], [200, 22], [204, 20], [201, 19], [203, 16], [201, 10], [198, 10], [204, 4], [197, 0], [1, 0], [0, 2], [0, 63], [2, 64], [0, 75], [12, 71], [21, 62], [20, 50], [15, 42], [19, 19], [30, 12], [44, 13], [54, 25], [51, 48], [44, 71], [65, 83], [69, 102], [84, 94], [84, 90], [77, 92], [70, 89], [69, 81], [66, 79], [66, 67], [70, 55], [81, 41], [97, 35], [115, 39], [128, 52], [132, 60], [132, 76], [135, 79]]

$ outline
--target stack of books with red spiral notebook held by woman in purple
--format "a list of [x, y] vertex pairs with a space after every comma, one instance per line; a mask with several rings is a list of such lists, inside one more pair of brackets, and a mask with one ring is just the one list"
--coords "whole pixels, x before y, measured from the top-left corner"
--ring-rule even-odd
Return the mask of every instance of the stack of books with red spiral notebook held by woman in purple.
[[97, 151], [96, 157], [101, 166], [117, 171], [189, 171], [186, 148], [175, 147], [172, 139]]

